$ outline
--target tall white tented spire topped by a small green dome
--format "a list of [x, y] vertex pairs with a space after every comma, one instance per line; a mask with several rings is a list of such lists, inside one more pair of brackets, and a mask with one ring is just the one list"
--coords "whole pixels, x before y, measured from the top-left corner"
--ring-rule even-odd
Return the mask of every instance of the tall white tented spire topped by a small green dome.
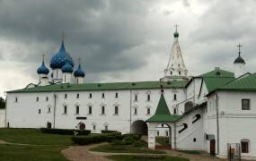
[[172, 45], [172, 53], [169, 57], [167, 67], [164, 70], [164, 78], [169, 78], [174, 80], [187, 79], [188, 70], [186, 69], [186, 66], [184, 64], [182, 54], [181, 54], [181, 47], [179, 45], [179, 40], [178, 40], [179, 32], [177, 31], [177, 25], [175, 25], [175, 27], [176, 27], [176, 30], [173, 33], [174, 42]]

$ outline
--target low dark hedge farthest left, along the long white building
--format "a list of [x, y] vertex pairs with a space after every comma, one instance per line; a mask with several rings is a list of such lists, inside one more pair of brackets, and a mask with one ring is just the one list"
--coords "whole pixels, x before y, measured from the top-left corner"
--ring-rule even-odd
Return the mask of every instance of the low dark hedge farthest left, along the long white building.
[[60, 135], [74, 135], [75, 132], [77, 132], [77, 135], [89, 135], [91, 133], [91, 131], [89, 131], [89, 130], [73, 130], [73, 129], [41, 128], [40, 130], [43, 133], [53, 133], [53, 134], [60, 134]]

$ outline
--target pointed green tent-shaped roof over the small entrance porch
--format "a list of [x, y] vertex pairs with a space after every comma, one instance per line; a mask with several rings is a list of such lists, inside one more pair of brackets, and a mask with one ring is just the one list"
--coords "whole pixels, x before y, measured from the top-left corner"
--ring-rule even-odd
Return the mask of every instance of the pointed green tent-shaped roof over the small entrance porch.
[[146, 122], [154, 122], [154, 123], [174, 122], [180, 117], [181, 115], [170, 113], [162, 93], [154, 115], [149, 119], [147, 119]]

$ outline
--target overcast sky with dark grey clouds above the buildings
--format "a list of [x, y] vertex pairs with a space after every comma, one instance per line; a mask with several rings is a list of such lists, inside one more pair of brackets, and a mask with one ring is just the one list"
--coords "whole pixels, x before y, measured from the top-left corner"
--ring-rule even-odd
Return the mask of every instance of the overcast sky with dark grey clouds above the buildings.
[[0, 96], [38, 82], [58, 51], [67, 52], [86, 82], [159, 80], [174, 24], [190, 75], [219, 66], [234, 71], [243, 44], [246, 72], [256, 72], [256, 1], [244, 0], [0, 0]]

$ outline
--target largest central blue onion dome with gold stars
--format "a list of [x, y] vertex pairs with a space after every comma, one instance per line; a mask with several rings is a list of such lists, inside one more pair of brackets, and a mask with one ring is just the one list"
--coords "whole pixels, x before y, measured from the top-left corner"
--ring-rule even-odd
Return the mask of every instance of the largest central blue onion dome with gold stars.
[[72, 67], [74, 66], [73, 59], [66, 53], [64, 40], [62, 40], [61, 47], [57, 54], [50, 59], [49, 64], [52, 69], [61, 69], [65, 64], [70, 64]]

